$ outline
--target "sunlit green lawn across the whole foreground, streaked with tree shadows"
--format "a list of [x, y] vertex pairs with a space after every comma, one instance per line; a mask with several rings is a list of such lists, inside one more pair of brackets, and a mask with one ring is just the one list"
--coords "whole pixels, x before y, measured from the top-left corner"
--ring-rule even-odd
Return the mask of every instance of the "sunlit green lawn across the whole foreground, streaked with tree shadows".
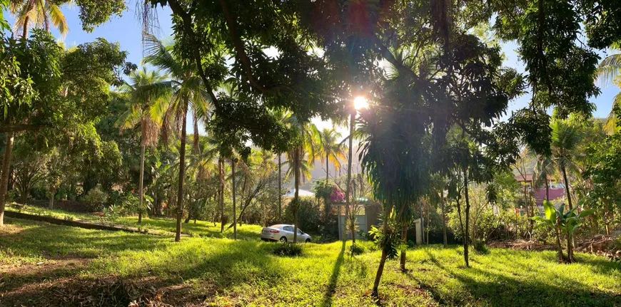
[[[373, 306], [379, 251], [304, 244], [303, 256], [274, 256], [275, 243], [130, 234], [7, 219], [0, 229], [0, 306]], [[213, 225], [213, 224], [212, 224]], [[240, 231], [251, 227], [244, 225]], [[621, 306], [621, 264], [577, 254], [491, 249], [463, 267], [460, 248], [408, 251], [408, 273], [388, 261], [383, 306]], [[4, 301], [3, 301], [4, 300]], [[95, 302], [95, 303], [93, 303]], [[103, 302], [103, 303], [102, 303]], [[86, 306], [91, 306], [86, 303]], [[19, 305], [18, 305], [19, 306]]]

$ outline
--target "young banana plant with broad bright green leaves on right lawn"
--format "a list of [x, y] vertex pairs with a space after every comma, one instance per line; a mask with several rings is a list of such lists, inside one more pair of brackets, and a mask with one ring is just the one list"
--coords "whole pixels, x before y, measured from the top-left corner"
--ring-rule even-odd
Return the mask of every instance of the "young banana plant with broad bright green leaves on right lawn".
[[[556, 209], [552, 203], [547, 200], [543, 201], [543, 207], [545, 209], [545, 217], [532, 217], [537, 222], [537, 228], [551, 227], [555, 231], [556, 244], [558, 248], [559, 261], [564, 263], [571, 263], [574, 261], [574, 253], [572, 247], [572, 235], [580, 229], [584, 223], [584, 218], [595, 212], [595, 209], [582, 210], [579, 214], [576, 214], [577, 207], [565, 212], [565, 206], [562, 205], [559, 209]], [[560, 244], [560, 234], [565, 233], [567, 236], [567, 258], [562, 253], [562, 246]]]

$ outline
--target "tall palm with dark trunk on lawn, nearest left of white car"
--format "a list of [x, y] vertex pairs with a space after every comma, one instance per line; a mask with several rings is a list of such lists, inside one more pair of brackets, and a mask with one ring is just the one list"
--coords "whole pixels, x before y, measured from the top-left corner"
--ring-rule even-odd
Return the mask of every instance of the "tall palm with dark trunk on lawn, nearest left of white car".
[[[186, 125], [188, 111], [192, 111], [194, 120], [194, 144], [198, 142], [198, 120], [207, 118], [208, 106], [211, 103], [207, 95], [201, 77], [196, 74], [194, 62], [187, 63], [173, 56], [171, 53], [173, 46], [164, 45], [155, 36], [145, 34], [146, 42], [144, 63], [149, 63], [161, 69], [171, 76], [168, 81], [169, 88], [172, 89], [171, 99], [166, 102], [156, 103], [153, 108], [154, 113], [159, 113], [163, 117], [163, 136], [168, 137], [168, 128], [176, 126], [181, 120], [181, 147], [179, 150], [179, 177], [177, 188], [177, 227], [175, 241], [181, 241], [181, 219], [183, 217], [183, 181], [186, 173]], [[176, 125], [175, 125], [176, 124]], [[175, 129], [176, 130], [176, 129]], [[198, 148], [198, 146], [195, 146]]]

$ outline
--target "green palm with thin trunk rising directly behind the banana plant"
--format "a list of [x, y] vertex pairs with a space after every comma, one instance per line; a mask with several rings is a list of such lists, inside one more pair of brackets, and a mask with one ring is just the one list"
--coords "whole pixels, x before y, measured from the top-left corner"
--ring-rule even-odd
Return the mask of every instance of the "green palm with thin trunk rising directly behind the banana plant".
[[552, 120], [550, 127], [552, 128], [552, 142], [550, 142], [552, 150], [551, 159], [557, 166], [560, 175], [562, 175], [567, 194], [567, 204], [569, 204], [569, 209], [572, 209], [567, 170], [577, 172], [575, 159], [580, 155], [577, 152], [577, 148], [580, 142], [582, 142], [583, 133], [579, 127], [569, 123], [567, 120]]

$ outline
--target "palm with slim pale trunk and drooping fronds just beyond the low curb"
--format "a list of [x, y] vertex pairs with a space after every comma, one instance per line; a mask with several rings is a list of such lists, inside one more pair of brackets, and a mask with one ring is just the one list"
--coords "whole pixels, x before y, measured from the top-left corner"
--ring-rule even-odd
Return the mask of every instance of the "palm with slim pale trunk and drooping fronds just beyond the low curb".
[[166, 90], [153, 90], [169, 88], [166, 84], [166, 76], [157, 71], [142, 71], [131, 73], [130, 82], [121, 86], [121, 90], [130, 96], [128, 108], [117, 120], [116, 125], [121, 129], [128, 129], [140, 125], [141, 129], [141, 154], [140, 154], [140, 182], [138, 194], [140, 194], [140, 211], [138, 212], [138, 224], [142, 222], [142, 203], [144, 198], [144, 154], [146, 147], [155, 147], [159, 139], [159, 124], [151, 114], [151, 105], [157, 100], [168, 98], [170, 93]]

